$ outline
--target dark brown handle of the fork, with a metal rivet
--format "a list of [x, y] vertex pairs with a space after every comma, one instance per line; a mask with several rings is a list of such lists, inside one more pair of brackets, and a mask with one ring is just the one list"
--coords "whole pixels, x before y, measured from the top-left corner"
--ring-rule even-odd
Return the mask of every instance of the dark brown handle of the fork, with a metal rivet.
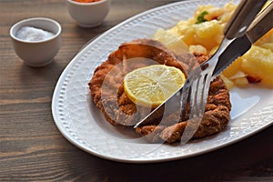
[[242, 0], [224, 29], [227, 39], [244, 35], [267, 0]]

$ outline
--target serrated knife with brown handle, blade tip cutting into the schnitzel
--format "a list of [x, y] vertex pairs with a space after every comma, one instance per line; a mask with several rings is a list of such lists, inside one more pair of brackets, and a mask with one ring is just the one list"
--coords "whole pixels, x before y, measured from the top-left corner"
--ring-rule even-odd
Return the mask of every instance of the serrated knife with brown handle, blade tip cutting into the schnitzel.
[[[268, 30], [272, 28], [273, 22], [273, 2], [270, 2], [267, 7], [264, 8], [255, 18], [255, 20], [248, 26], [247, 31], [243, 35], [238, 35], [238, 38], [235, 38], [225, 49], [225, 51], [218, 57], [217, 66], [215, 67], [212, 79], [217, 77], [227, 66], [229, 66], [238, 56], [244, 55], [253, 43], [255, 43], [258, 38], [266, 34]], [[237, 12], [238, 15], [238, 12]], [[231, 22], [231, 21], [230, 21]], [[227, 31], [227, 30], [226, 30]], [[206, 68], [207, 62], [202, 64], [201, 68]], [[188, 80], [186, 80], [187, 82]], [[187, 86], [185, 83], [184, 86]], [[157, 106], [148, 116], [142, 119], [140, 122], [136, 123], [134, 128], [137, 126], [145, 125], [155, 118], [162, 119], [164, 115], [168, 115], [177, 110], [180, 106], [178, 102], [183, 93], [184, 87], [180, 88], [173, 96], [170, 96], [167, 101], [160, 106]], [[183, 100], [182, 102], [187, 102]], [[184, 111], [181, 111], [184, 112]], [[161, 113], [161, 115], [160, 115]], [[183, 117], [183, 115], [181, 115]]]

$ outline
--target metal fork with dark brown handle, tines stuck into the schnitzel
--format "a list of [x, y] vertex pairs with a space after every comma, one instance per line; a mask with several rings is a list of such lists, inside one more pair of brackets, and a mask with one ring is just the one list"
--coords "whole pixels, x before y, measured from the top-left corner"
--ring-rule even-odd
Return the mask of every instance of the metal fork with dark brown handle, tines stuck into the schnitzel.
[[262, 5], [265, 3], [266, 1], [257, 0], [241, 1], [224, 29], [224, 38], [219, 45], [217, 52], [211, 56], [207, 62], [201, 64], [189, 73], [187, 82], [183, 86], [183, 93], [181, 94], [180, 99], [180, 117], [184, 116], [186, 113], [188, 100], [190, 111], [187, 126], [181, 136], [181, 144], [186, 144], [187, 141], [192, 138], [202, 121], [202, 117], [205, 113], [210, 82], [221, 73], [221, 71], [217, 69], [217, 66], [223, 66], [223, 68], [220, 69], [223, 70], [237, 58], [233, 57], [233, 59], [227, 63], [218, 63], [218, 57], [222, 55], [228, 45], [231, 45], [236, 38], [245, 34], [248, 25], [251, 24], [260, 11]]

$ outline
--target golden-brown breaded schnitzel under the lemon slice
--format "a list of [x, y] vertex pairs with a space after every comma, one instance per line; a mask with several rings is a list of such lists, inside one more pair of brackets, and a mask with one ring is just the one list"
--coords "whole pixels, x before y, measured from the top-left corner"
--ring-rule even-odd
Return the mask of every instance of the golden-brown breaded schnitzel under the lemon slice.
[[[176, 66], [187, 76], [190, 70], [207, 58], [191, 54], [177, 56], [155, 40], [137, 39], [120, 45], [101, 66], [96, 67], [94, 76], [88, 84], [90, 93], [109, 123], [114, 126], [131, 127], [147, 116], [151, 108], [136, 106], [126, 96], [123, 87], [126, 73], [138, 67], [161, 64]], [[210, 136], [223, 130], [229, 121], [230, 109], [227, 86], [217, 77], [210, 85], [206, 112], [193, 137]], [[180, 120], [179, 114], [171, 113], [165, 118], [164, 124], [158, 126], [161, 122], [160, 116], [162, 113], [158, 113], [157, 118], [144, 126], [136, 127], [136, 133], [146, 136], [150, 142], [177, 142], [187, 126], [188, 111]]]

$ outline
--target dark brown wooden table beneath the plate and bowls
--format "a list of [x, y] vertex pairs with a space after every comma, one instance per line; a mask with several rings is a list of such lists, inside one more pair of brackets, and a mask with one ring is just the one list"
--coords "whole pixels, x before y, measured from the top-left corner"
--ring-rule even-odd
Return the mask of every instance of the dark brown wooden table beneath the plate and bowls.
[[[152, 7], [172, 0], [112, 0], [103, 25], [81, 28], [64, 0], [0, 1], [0, 181], [273, 181], [273, 127], [198, 157], [159, 164], [123, 164], [94, 157], [60, 134], [51, 114], [58, 77], [79, 49], [95, 37]], [[8, 35], [15, 22], [56, 19], [63, 45], [45, 67], [25, 66]]]

